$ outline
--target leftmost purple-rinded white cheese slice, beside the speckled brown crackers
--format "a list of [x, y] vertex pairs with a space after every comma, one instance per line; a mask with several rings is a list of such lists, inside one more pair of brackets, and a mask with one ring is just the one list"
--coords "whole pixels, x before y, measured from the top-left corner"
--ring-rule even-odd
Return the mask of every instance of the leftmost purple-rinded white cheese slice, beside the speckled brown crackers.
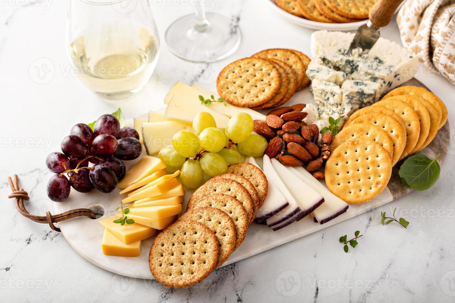
[[[259, 165], [256, 163], [253, 157], [249, 157], [248, 162], [257, 166], [260, 169]], [[267, 177], [267, 179], [269, 180], [270, 178]], [[278, 190], [275, 184], [269, 182], [267, 197], [265, 198], [264, 203], [256, 213], [255, 219], [256, 223], [264, 224], [268, 218], [272, 217], [274, 214], [278, 214], [282, 209], [284, 209], [288, 205], [289, 205], [288, 200]]]

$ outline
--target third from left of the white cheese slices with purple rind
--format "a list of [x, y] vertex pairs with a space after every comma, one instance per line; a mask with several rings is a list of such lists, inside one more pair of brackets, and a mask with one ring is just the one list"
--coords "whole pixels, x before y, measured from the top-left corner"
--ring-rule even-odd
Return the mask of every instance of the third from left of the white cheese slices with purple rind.
[[312, 186], [298, 179], [277, 159], [272, 159], [272, 165], [277, 171], [278, 176], [283, 180], [286, 187], [295, 197], [302, 210], [301, 214], [296, 219], [297, 221], [312, 213], [324, 203], [324, 197], [321, 194], [314, 190]]

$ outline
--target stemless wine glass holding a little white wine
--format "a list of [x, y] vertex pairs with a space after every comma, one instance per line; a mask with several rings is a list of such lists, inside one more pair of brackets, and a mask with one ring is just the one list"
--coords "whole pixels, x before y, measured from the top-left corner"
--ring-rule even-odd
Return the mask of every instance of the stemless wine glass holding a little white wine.
[[66, 40], [79, 79], [106, 99], [140, 91], [160, 50], [149, 0], [70, 0]]

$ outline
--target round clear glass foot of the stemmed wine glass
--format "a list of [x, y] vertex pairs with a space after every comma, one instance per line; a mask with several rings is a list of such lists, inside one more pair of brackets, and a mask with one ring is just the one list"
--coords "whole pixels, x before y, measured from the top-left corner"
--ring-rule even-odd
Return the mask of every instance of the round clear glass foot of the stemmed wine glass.
[[175, 20], [166, 30], [168, 49], [180, 59], [190, 62], [210, 62], [232, 55], [239, 47], [241, 33], [238, 25], [226, 16], [206, 13], [210, 28], [194, 29], [194, 14]]

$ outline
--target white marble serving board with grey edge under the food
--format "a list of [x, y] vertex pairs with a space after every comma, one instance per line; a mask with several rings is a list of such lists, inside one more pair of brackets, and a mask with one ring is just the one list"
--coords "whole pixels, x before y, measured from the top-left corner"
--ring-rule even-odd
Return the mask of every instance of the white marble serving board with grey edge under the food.
[[[416, 79], [412, 79], [404, 85], [425, 87], [425, 85]], [[311, 98], [311, 95], [309, 94], [309, 91], [307, 91], [308, 89], [305, 89], [303, 92], [293, 97], [293, 99], [289, 101], [289, 104], [298, 102], [309, 103], [306, 100], [309, 101], [310, 99], [308, 98]], [[308, 97], [306, 98], [306, 96]], [[441, 153], [438, 162], [442, 164], [449, 148], [449, 138], [450, 127], [449, 122], [447, 122], [438, 131], [431, 144], [420, 151], [419, 154], [425, 154], [433, 159], [438, 153]], [[262, 159], [257, 160], [261, 165]], [[137, 160], [127, 161], [127, 169], [131, 168], [136, 162]], [[384, 189], [378, 197], [364, 204], [350, 204], [349, 209], [345, 214], [340, 215], [338, 218], [333, 219], [328, 223], [322, 225], [314, 223], [311, 216], [307, 216], [302, 220], [291, 224], [290, 226], [292, 227], [282, 228], [278, 231], [273, 231], [266, 225], [253, 223], [248, 229], [247, 236], [242, 245], [231, 254], [223, 266], [251, 257], [284, 243], [288, 243], [297, 238], [304, 237], [310, 233], [317, 232], [344, 220], [361, 216], [364, 213], [380, 208], [385, 204], [408, 194], [412, 189], [401, 184], [398, 175], [400, 164], [401, 162], [394, 167], [392, 178], [390, 179], [387, 188]], [[141, 255], [136, 258], [106, 256], [101, 251], [101, 240], [104, 227], [101, 226], [98, 221], [101, 218], [107, 218], [116, 213], [114, 209], [120, 204], [119, 192], [120, 189], [116, 189], [111, 194], [102, 194], [97, 191], [93, 191], [89, 194], [81, 194], [76, 191], [71, 191], [71, 195], [64, 203], [54, 203], [54, 213], [61, 213], [76, 208], [89, 208], [94, 210], [97, 214], [102, 214], [102, 216], [98, 219], [78, 217], [60, 222], [58, 227], [61, 229], [63, 236], [71, 247], [96, 266], [127, 277], [153, 279], [148, 266], [148, 255], [154, 237], [142, 241]], [[192, 190], [188, 190], [185, 194], [185, 201], [183, 203], [184, 210], [186, 209], [187, 201], [192, 193]], [[379, 210], [377, 212], [379, 213]], [[360, 219], [362, 219], [362, 216]], [[364, 219], [366, 220], [366, 218]], [[292, 233], [289, 233], [288, 228], [292, 228]]]

